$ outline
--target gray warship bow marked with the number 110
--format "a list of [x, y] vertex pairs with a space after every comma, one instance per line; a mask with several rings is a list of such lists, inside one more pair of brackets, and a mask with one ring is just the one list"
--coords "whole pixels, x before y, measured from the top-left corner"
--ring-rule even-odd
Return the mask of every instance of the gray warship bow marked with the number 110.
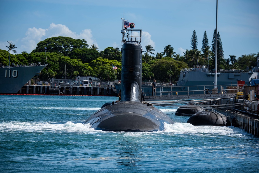
[[34, 76], [40, 75], [47, 64], [13, 65], [0, 67], [0, 93], [17, 93]]

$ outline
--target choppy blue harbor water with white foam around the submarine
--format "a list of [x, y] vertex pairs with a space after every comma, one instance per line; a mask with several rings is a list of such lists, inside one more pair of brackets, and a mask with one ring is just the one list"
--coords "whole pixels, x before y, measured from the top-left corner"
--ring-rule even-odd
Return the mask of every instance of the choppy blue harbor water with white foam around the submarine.
[[175, 108], [163, 132], [82, 124], [116, 97], [0, 95], [0, 172], [258, 172], [259, 138], [192, 126]]

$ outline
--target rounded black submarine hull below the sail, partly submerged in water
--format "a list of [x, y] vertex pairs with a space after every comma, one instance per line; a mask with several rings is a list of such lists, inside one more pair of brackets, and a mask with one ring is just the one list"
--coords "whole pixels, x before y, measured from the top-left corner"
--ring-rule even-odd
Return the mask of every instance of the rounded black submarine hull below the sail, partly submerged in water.
[[162, 111], [145, 103], [125, 101], [103, 107], [84, 124], [104, 131], [163, 131], [174, 122]]

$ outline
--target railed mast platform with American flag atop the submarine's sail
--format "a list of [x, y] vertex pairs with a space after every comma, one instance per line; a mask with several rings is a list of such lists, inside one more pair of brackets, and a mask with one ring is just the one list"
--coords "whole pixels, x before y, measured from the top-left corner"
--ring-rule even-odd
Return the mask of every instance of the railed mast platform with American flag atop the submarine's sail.
[[[141, 30], [134, 30], [135, 27], [134, 23], [129, 23], [124, 18], [121, 18], [122, 20], [122, 30], [120, 31], [122, 33], [122, 41], [121, 45], [128, 41], [134, 41], [134, 42], [141, 42]], [[128, 30], [127, 28], [130, 28]], [[135, 31], [135, 32], [133, 32]], [[123, 43], [123, 44], [122, 44]]]

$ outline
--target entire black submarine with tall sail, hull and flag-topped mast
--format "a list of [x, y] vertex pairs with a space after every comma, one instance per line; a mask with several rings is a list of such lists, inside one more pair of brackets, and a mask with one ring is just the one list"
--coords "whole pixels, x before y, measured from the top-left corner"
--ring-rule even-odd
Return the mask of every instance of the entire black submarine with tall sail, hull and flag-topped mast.
[[[127, 30], [122, 21], [121, 102], [104, 104], [84, 124], [90, 123], [91, 128], [104, 131], [163, 131], [165, 123], [174, 122], [152, 104], [141, 102], [141, 30], [133, 30], [133, 23], [129, 23], [131, 30]], [[140, 32], [139, 40], [134, 36], [133, 41], [133, 31]]]

